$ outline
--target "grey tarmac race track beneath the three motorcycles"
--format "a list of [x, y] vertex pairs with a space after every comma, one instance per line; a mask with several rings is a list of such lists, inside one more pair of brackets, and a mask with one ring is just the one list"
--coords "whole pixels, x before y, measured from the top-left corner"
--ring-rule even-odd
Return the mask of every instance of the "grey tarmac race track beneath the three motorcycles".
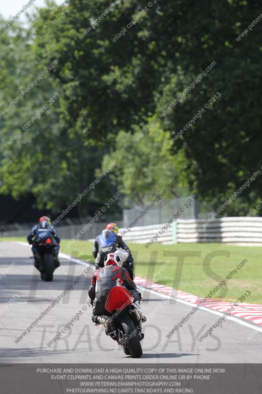
[[[198, 338], [219, 319], [210, 311], [198, 310], [168, 338], [192, 306], [148, 290], [142, 292], [142, 310], [147, 317], [144, 354], [141, 359], [131, 359], [105, 335], [104, 328], [91, 322], [87, 296], [93, 272], [90, 266], [61, 255], [54, 281], [43, 282], [31, 256], [24, 243], [0, 242], [1, 363], [262, 362], [262, 332], [252, 323], [242, 326], [226, 320], [200, 342]], [[74, 282], [76, 277], [78, 283]], [[73, 290], [63, 293], [70, 285]], [[46, 311], [56, 298], [59, 303]], [[56, 336], [58, 339], [50, 343]]]

